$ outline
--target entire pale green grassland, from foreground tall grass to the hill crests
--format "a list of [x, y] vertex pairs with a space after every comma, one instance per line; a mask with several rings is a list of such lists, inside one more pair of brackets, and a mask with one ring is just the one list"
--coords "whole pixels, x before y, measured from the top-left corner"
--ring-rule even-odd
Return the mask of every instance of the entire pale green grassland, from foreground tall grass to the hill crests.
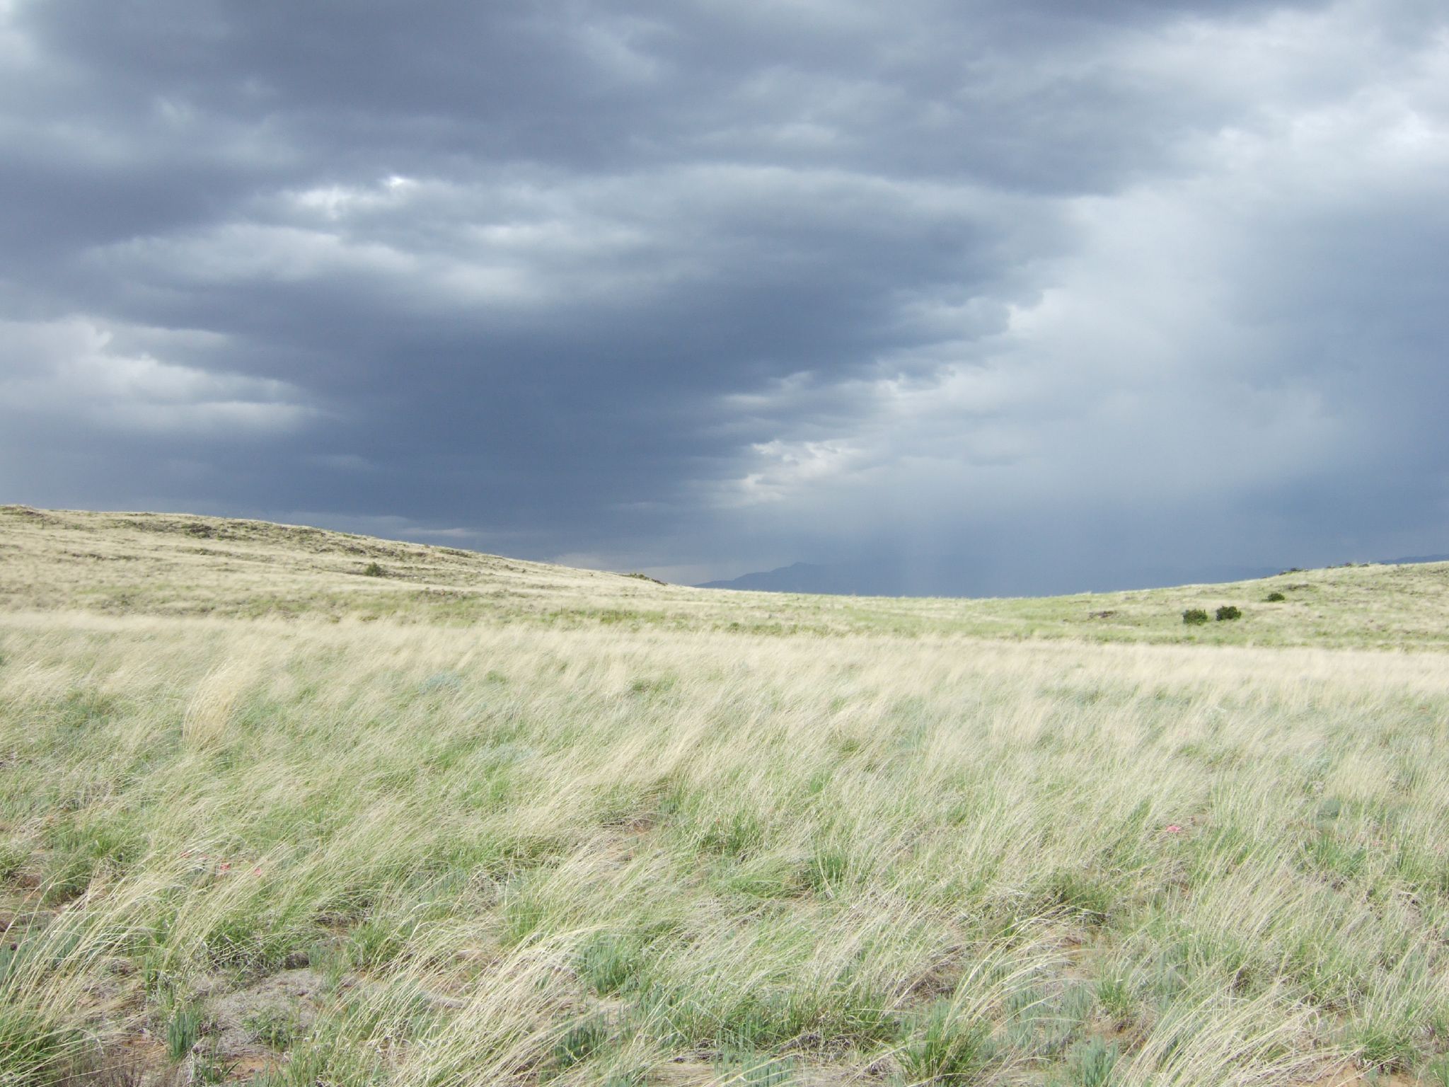
[[1446, 581], [780, 597], [6, 507], [0, 1084], [1443, 1087]]

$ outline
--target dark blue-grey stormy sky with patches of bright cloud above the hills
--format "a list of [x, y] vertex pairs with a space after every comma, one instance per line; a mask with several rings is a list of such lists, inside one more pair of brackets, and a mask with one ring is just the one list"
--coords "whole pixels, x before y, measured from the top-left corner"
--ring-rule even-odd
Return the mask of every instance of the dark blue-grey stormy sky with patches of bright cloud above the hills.
[[0, 501], [1385, 558], [1449, 551], [1446, 349], [1442, 0], [0, 0]]

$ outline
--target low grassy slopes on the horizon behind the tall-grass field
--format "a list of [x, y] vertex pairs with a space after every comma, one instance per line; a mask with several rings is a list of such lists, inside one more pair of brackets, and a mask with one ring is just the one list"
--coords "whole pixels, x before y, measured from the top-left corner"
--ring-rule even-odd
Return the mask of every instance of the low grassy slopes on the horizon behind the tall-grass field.
[[[369, 575], [371, 574], [371, 575]], [[1281, 593], [1281, 603], [1266, 603]], [[1243, 617], [1182, 625], [1182, 612]], [[894, 633], [1233, 645], [1449, 646], [1449, 562], [1001, 600], [661, 586], [456, 548], [258, 520], [0, 506], [0, 607], [738, 633]]]

